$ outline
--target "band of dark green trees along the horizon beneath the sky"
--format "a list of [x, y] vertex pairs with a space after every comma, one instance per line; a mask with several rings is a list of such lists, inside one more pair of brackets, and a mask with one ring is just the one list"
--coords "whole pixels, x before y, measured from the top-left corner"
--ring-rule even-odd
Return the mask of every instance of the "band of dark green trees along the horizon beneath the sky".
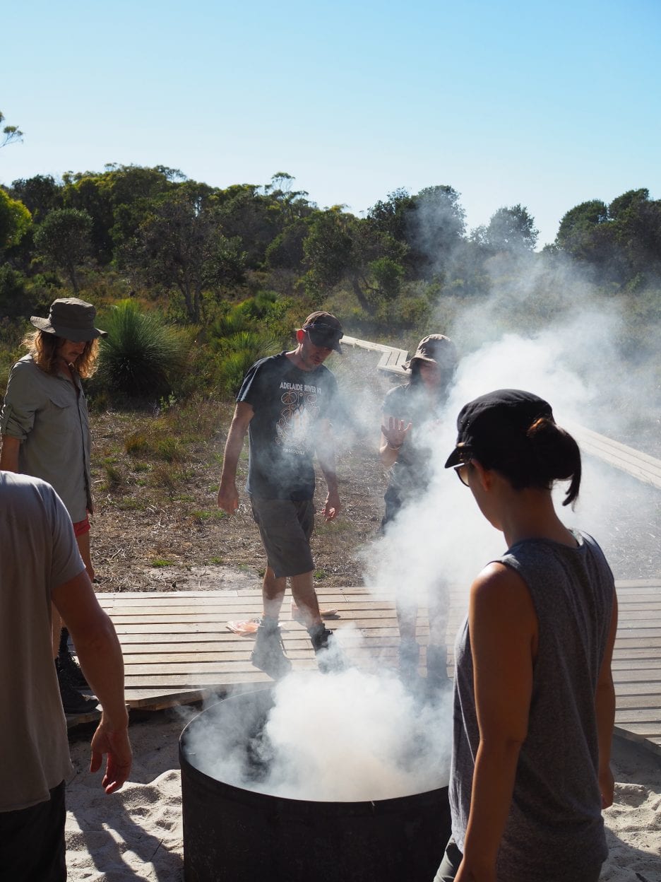
[[25, 315], [100, 273], [125, 293], [166, 295], [192, 323], [258, 289], [317, 303], [341, 289], [354, 317], [412, 327], [430, 298], [488, 294], [503, 258], [508, 272], [569, 261], [611, 293], [661, 280], [661, 200], [646, 189], [575, 206], [552, 245], [535, 252], [537, 240], [521, 205], [469, 230], [448, 184], [399, 189], [358, 217], [320, 208], [286, 172], [218, 188], [164, 166], [108, 165], [0, 188], [0, 308]]

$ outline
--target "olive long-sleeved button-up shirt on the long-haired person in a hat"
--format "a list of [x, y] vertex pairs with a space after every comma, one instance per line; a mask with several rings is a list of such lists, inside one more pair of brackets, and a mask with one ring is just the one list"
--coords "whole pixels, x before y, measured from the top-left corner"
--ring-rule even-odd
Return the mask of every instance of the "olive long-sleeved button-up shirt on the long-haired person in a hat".
[[92, 476], [87, 402], [73, 377], [21, 358], [10, 371], [0, 434], [19, 439], [19, 472], [52, 484], [75, 524], [92, 511]]

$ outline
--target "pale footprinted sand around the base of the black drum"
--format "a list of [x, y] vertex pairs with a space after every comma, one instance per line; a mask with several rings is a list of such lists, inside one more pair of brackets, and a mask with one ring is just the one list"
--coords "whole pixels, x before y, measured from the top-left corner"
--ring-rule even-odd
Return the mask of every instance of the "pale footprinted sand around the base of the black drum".
[[[190, 712], [188, 712], [190, 713]], [[131, 724], [130, 781], [113, 796], [87, 771], [88, 739], [71, 744], [67, 866], [73, 882], [182, 882], [182, 812], [175, 714]], [[616, 739], [615, 804], [605, 812], [610, 856], [601, 878], [661, 882], [661, 756]], [[568, 880], [570, 882], [570, 880]]]

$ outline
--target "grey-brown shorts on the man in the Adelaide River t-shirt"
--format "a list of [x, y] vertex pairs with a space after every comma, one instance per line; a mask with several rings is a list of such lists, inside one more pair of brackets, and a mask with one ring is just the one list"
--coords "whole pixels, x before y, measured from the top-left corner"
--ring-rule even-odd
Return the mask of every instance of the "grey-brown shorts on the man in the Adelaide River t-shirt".
[[315, 564], [310, 551], [310, 536], [315, 526], [313, 499], [257, 499], [250, 497], [266, 560], [276, 579], [312, 572]]

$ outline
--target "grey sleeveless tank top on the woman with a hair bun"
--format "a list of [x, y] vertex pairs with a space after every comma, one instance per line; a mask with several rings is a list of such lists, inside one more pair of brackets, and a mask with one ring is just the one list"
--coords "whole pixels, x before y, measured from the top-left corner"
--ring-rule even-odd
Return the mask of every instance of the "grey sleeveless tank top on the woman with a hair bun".
[[[597, 542], [532, 539], [498, 563], [516, 570], [538, 617], [528, 735], [498, 855], [499, 882], [582, 882], [607, 855], [594, 696], [613, 611], [613, 573]], [[479, 745], [468, 620], [457, 636], [449, 798], [464, 850]], [[590, 875], [591, 874], [591, 875]]]

